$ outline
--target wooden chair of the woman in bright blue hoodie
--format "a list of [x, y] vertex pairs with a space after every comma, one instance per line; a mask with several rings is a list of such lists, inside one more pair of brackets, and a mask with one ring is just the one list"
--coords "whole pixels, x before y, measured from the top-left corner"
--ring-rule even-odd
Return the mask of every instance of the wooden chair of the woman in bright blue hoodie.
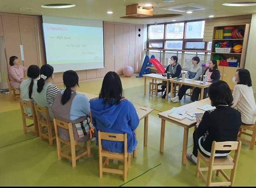
[[[123, 141], [124, 153], [109, 152], [102, 148], [102, 140], [111, 141]], [[127, 133], [115, 134], [115, 133], [103, 133], [98, 131], [98, 145], [99, 145], [99, 164], [100, 164], [100, 178], [102, 178], [103, 172], [109, 172], [114, 174], [123, 174], [124, 181], [127, 179], [128, 168], [131, 167], [131, 154], [127, 153]], [[102, 158], [106, 157], [105, 162], [102, 164]], [[105, 168], [105, 165], [109, 164], [109, 159], [117, 159], [124, 161], [124, 169], [111, 169]]]

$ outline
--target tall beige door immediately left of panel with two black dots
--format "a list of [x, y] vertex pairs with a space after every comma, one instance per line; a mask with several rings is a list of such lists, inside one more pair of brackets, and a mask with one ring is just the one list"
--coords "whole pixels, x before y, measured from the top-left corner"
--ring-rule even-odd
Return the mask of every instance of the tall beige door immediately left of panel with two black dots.
[[129, 66], [135, 70], [135, 26], [129, 26]]

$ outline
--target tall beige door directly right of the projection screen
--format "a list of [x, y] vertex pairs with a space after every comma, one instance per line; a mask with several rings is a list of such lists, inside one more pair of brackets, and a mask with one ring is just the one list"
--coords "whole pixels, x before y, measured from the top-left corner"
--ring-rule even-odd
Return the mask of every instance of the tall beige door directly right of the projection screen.
[[104, 24], [104, 61], [106, 73], [114, 71], [114, 24]]

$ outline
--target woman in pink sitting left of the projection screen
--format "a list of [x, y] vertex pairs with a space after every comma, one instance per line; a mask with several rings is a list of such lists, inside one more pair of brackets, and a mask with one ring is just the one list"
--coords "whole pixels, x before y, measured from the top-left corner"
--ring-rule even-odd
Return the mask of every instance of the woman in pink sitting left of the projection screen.
[[16, 56], [10, 57], [9, 80], [11, 86], [18, 90], [21, 82], [24, 80], [25, 74], [28, 69], [19, 64], [19, 59]]

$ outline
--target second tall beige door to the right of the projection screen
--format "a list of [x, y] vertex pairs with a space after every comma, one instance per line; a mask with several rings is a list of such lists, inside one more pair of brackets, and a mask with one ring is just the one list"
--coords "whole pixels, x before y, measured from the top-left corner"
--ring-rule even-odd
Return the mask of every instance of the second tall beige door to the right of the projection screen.
[[115, 25], [115, 44], [114, 44], [114, 56], [115, 56], [115, 72], [118, 75], [123, 74], [123, 26]]

